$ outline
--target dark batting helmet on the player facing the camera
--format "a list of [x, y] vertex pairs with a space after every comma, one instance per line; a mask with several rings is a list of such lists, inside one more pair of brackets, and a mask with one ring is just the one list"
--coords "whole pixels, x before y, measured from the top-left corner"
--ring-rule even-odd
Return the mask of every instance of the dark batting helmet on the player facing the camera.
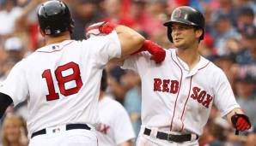
[[164, 26], [168, 26], [168, 39], [173, 43], [172, 37], [172, 23], [178, 22], [182, 24], [186, 24], [188, 26], [195, 26], [196, 28], [203, 29], [203, 34], [200, 36], [200, 40], [204, 39], [204, 15], [202, 15], [197, 9], [193, 9], [192, 7], [182, 6], [174, 9], [171, 19], [168, 22], [164, 23]]

